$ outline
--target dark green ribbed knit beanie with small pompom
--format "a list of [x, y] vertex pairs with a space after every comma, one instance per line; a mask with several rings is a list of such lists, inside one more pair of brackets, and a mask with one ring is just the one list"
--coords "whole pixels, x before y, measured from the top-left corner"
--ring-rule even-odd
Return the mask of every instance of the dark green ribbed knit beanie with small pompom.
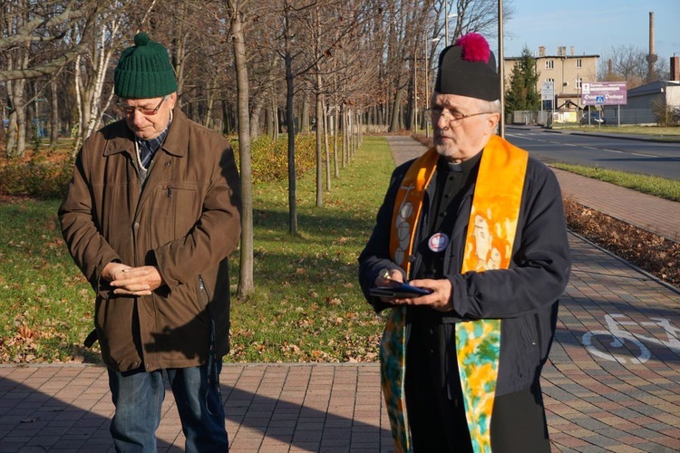
[[177, 91], [175, 72], [168, 51], [138, 33], [134, 45], [121, 53], [113, 72], [113, 92], [123, 99], [160, 98]]

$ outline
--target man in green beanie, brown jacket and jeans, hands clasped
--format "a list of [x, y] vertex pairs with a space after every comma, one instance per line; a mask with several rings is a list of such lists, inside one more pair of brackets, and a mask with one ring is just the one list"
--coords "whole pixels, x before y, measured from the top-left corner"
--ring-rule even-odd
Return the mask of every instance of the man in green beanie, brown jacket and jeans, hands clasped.
[[[189, 120], [168, 51], [147, 34], [121, 53], [123, 120], [83, 143], [59, 208], [63, 238], [96, 294], [117, 451], [156, 451], [167, 376], [186, 451], [227, 451], [219, 394], [228, 352], [228, 255], [240, 181], [228, 140]], [[86, 342], [88, 344], [88, 342]]]

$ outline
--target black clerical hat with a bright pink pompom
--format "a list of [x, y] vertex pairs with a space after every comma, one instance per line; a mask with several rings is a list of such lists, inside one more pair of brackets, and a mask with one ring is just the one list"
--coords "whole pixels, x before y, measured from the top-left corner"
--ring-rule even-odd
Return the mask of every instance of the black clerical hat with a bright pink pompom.
[[434, 91], [484, 101], [500, 99], [496, 57], [481, 34], [464, 34], [439, 55]]

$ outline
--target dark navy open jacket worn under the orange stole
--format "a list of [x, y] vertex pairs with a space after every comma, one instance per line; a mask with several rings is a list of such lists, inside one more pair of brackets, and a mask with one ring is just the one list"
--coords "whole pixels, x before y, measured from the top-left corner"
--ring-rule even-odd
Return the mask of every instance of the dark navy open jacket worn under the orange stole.
[[[380, 269], [399, 268], [390, 259], [389, 244], [395, 194], [413, 161], [394, 170], [380, 207], [373, 234], [359, 256], [359, 281], [366, 300], [376, 312], [390, 307], [368, 294]], [[422, 217], [415, 241], [428, 234], [435, 173], [423, 199]], [[458, 216], [445, 252], [445, 277], [452, 284], [453, 310], [436, 313], [441, 323], [500, 319], [500, 364], [496, 394], [524, 390], [538, 381], [548, 359], [557, 323], [558, 298], [568, 283], [570, 257], [564, 208], [557, 178], [536, 159], [529, 158], [522, 193], [520, 219], [509, 269], [461, 274], [466, 230], [474, 181], [461, 198]], [[414, 247], [412, 275], [423, 256]], [[409, 307], [410, 310], [410, 307]], [[432, 310], [432, 312], [434, 312]], [[408, 318], [407, 318], [408, 319]]]

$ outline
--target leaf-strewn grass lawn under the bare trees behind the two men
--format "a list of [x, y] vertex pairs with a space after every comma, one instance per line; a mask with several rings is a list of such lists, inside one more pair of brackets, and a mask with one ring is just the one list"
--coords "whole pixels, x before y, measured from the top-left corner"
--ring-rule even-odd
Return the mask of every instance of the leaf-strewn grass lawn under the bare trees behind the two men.
[[[356, 258], [374, 224], [393, 160], [364, 137], [316, 207], [314, 172], [298, 180], [300, 235], [288, 235], [287, 183], [254, 187], [256, 294], [232, 299], [226, 361], [375, 361], [383, 320], [366, 304]], [[80, 346], [93, 293], [68, 255], [58, 200], [0, 204], [0, 362], [98, 361]], [[236, 289], [238, 253], [231, 259]]]

